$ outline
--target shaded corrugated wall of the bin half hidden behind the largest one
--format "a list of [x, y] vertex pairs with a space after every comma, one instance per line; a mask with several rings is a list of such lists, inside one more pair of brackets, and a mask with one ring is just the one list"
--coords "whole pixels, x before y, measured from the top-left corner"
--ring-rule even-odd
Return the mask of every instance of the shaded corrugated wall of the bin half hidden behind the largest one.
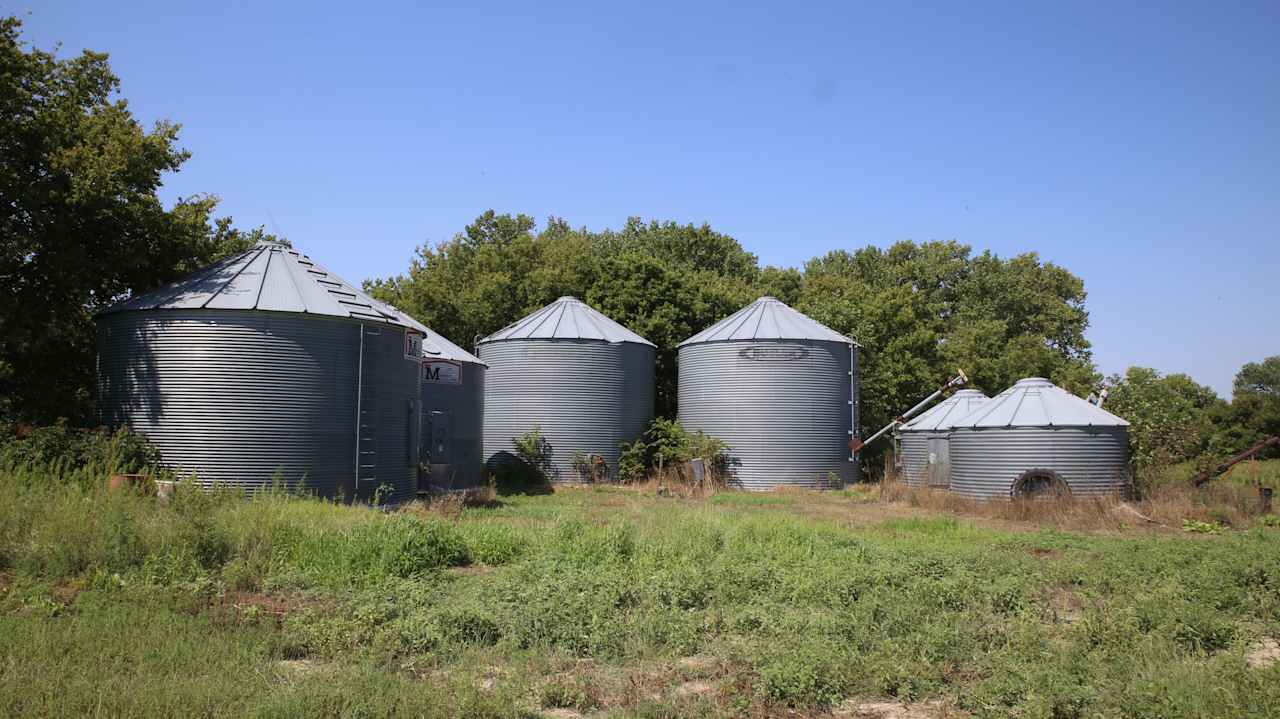
[[457, 366], [461, 384], [422, 379], [421, 457], [424, 463], [429, 463], [422, 486], [436, 491], [477, 487], [486, 478], [485, 368], [471, 362], [458, 362]]

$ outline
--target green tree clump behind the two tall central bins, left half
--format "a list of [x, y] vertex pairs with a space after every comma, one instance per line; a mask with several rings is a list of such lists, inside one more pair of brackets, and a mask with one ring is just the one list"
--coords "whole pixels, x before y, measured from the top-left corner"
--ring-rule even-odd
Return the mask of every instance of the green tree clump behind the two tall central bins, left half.
[[[627, 220], [573, 229], [489, 210], [462, 233], [417, 249], [410, 270], [365, 283], [379, 299], [472, 347], [476, 338], [575, 296], [658, 345], [657, 411], [676, 413], [676, 344], [753, 299], [755, 256], [709, 226]], [[776, 271], [780, 287], [786, 271]], [[797, 276], [797, 274], [796, 274]]]

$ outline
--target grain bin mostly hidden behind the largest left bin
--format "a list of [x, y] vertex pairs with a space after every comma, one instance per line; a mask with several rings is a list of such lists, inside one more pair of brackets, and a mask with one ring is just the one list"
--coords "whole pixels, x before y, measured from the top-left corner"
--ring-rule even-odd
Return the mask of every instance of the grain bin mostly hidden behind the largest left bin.
[[421, 322], [421, 455], [419, 489], [449, 491], [484, 485], [484, 380], [488, 365]]

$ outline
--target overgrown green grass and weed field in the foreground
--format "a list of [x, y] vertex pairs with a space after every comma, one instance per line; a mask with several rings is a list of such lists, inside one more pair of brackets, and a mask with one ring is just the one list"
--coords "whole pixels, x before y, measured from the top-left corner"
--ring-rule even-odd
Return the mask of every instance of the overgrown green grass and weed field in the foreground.
[[1263, 522], [1047, 530], [874, 489], [383, 513], [96, 486], [0, 475], [0, 714], [1280, 715]]

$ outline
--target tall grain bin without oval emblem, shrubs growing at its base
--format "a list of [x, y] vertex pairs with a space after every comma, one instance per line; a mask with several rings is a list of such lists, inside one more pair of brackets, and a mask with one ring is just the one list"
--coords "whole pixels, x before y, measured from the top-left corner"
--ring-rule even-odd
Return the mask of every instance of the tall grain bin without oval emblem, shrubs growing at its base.
[[485, 377], [484, 453], [515, 457], [535, 427], [549, 445], [553, 481], [577, 481], [575, 457], [617, 471], [618, 444], [653, 420], [654, 344], [573, 297], [561, 297], [479, 343]]

